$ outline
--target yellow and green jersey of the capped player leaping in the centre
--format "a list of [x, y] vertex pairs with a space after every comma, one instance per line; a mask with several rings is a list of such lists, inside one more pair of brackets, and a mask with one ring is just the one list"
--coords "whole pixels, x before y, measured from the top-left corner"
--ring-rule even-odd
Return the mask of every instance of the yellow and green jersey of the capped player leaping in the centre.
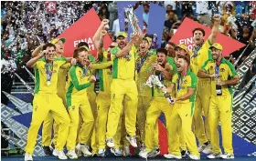
[[129, 52], [129, 60], [124, 57], [115, 57], [115, 55], [121, 49], [117, 46], [112, 48], [111, 54], [114, 55], [112, 58], [113, 65], [112, 65], [112, 78], [113, 79], [133, 79], [134, 78], [134, 71], [135, 71], [135, 55], [137, 53], [136, 47], [133, 45], [131, 51]]

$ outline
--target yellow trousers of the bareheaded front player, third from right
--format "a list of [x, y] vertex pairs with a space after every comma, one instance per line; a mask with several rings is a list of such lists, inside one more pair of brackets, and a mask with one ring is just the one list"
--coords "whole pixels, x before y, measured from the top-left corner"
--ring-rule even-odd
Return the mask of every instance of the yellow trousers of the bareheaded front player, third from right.
[[171, 128], [168, 133], [169, 153], [181, 156], [180, 144], [178, 140], [178, 128], [181, 126], [183, 134], [185, 136], [188, 151], [192, 155], [199, 156], [197, 150], [197, 142], [194, 133], [192, 132], [192, 118], [194, 112], [194, 103], [175, 103], [169, 119], [166, 120], [171, 124]]

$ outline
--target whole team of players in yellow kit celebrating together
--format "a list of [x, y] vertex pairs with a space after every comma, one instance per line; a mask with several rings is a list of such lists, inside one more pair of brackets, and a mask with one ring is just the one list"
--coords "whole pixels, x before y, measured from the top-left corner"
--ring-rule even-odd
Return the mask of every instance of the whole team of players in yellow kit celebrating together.
[[[239, 76], [216, 43], [220, 17], [215, 15], [213, 20], [206, 41], [203, 29], [193, 30], [192, 51], [173, 43], [151, 49], [151, 37], [142, 34], [136, 20], [138, 32], [130, 41], [120, 32], [116, 43], [105, 49], [106, 19], [93, 36], [96, 59], [84, 42], [73, 57], [63, 55], [65, 38], [38, 46], [27, 62], [35, 69], [36, 86], [25, 160], [33, 160], [42, 123], [44, 151], [59, 159], [106, 156], [107, 148], [115, 156], [130, 156], [129, 146], [140, 148], [141, 157], [158, 156], [157, 119], [162, 113], [166, 158], [198, 160], [200, 152], [211, 159], [234, 158], [231, 86], [239, 83]], [[152, 75], [164, 86], [147, 86]], [[224, 153], [219, 146], [219, 123]]]

